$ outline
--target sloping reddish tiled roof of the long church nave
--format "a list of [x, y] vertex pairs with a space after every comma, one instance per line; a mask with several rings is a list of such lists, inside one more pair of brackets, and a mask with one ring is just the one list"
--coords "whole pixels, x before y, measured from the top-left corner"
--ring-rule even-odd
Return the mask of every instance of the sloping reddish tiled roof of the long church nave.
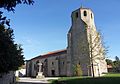
[[32, 58], [31, 60], [35, 60], [35, 59], [42, 59], [42, 58], [47, 58], [47, 57], [51, 57], [51, 56], [58, 56], [59, 54], [63, 54], [66, 53], [67, 50], [63, 49], [63, 50], [57, 50], [57, 51], [53, 51], [53, 52], [48, 52], [46, 54], [43, 55], [39, 55], [37, 57]]

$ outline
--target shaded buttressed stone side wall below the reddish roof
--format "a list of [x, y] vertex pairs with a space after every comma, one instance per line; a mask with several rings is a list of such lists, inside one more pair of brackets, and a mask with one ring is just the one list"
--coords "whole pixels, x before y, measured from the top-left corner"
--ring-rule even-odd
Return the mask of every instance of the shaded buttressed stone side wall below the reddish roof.
[[27, 61], [26, 75], [36, 77], [38, 73], [37, 62], [43, 65], [44, 76], [66, 76], [66, 52], [45, 55], [37, 59]]

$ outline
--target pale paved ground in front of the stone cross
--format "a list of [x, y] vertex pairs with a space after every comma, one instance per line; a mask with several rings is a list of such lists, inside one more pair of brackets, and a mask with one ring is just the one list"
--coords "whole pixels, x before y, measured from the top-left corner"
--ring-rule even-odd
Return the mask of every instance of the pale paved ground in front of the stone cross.
[[17, 84], [49, 84], [50, 82], [48, 80], [50, 79], [58, 79], [56, 77], [47, 77], [42, 79], [36, 79], [36, 78], [19, 78], [17, 81]]

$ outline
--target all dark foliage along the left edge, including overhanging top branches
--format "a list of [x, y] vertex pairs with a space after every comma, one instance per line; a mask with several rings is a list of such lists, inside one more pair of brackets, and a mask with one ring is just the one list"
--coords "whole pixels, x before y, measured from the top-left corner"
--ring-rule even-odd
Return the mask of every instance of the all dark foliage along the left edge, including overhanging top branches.
[[[0, 8], [15, 11], [18, 4], [32, 5], [33, 0], [1, 0]], [[21, 45], [14, 42], [13, 30], [10, 28], [10, 19], [4, 17], [0, 11], [0, 74], [15, 71], [24, 64]]]

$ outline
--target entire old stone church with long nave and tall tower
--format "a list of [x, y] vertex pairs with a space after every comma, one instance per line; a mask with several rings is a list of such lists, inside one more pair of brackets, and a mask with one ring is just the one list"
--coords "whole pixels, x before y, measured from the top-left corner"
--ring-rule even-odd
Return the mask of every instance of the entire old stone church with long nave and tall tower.
[[74, 76], [76, 65], [80, 65], [85, 76], [107, 73], [105, 56], [101, 53], [104, 47], [96, 30], [92, 10], [81, 7], [72, 12], [71, 18], [67, 48], [27, 60], [27, 76], [36, 77], [38, 72], [44, 76]]

